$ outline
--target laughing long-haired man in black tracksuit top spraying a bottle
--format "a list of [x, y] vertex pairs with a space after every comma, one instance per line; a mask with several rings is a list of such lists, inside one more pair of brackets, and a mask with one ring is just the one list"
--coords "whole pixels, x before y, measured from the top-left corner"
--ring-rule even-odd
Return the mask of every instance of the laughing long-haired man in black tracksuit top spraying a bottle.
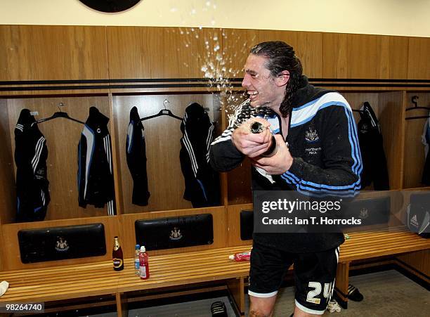
[[[253, 190], [328, 195], [354, 195], [359, 190], [361, 157], [351, 108], [339, 93], [308, 84], [292, 46], [282, 41], [254, 46], [242, 86], [249, 100], [240, 105], [230, 127], [212, 143], [214, 169], [227, 172], [249, 157], [254, 166]], [[245, 121], [249, 114], [263, 118]], [[252, 133], [255, 121], [263, 125], [261, 133]], [[273, 315], [276, 294], [292, 264], [294, 316], [322, 315], [334, 289], [344, 236], [254, 233], [253, 240], [249, 316]]]

